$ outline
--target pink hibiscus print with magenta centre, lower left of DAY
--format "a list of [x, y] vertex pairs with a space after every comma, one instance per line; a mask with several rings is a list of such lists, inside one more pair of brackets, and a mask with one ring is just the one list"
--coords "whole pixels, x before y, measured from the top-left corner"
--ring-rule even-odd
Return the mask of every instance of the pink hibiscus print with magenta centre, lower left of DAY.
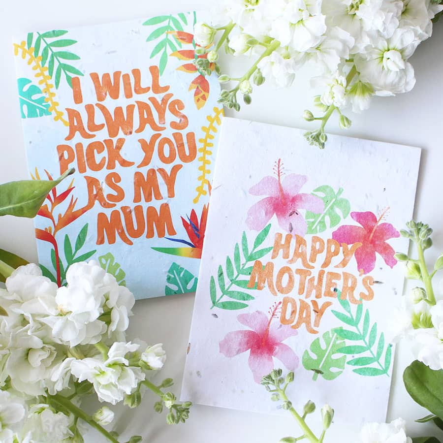
[[288, 337], [297, 335], [297, 331], [289, 325], [271, 325], [281, 304], [276, 304], [270, 310], [269, 318], [261, 311], [240, 314], [237, 316], [238, 321], [252, 330], [229, 332], [220, 342], [220, 352], [226, 357], [232, 358], [250, 351], [249, 367], [257, 383], [274, 369], [272, 357], [279, 359], [291, 371], [298, 367], [299, 358], [291, 348], [282, 343]]

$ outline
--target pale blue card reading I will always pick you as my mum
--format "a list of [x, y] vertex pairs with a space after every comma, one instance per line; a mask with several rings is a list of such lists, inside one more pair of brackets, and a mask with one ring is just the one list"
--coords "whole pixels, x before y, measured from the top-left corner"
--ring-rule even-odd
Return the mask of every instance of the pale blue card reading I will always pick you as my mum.
[[32, 178], [75, 168], [35, 218], [41, 268], [59, 285], [94, 258], [137, 298], [195, 291], [223, 113], [217, 76], [193, 64], [196, 20], [14, 39]]

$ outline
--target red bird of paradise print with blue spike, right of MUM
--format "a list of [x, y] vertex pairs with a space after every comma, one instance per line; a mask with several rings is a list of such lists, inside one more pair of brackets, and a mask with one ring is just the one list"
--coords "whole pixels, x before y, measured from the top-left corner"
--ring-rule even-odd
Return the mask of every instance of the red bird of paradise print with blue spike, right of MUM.
[[165, 254], [179, 255], [181, 257], [189, 258], [201, 258], [201, 251], [203, 248], [203, 240], [205, 238], [206, 220], [208, 218], [208, 206], [204, 205], [201, 211], [200, 221], [198, 221], [197, 213], [192, 209], [190, 217], [185, 220], [183, 217], [182, 224], [188, 234], [189, 241], [165, 237], [172, 242], [182, 243], [188, 247], [181, 248], [152, 248], [154, 251], [158, 251]]

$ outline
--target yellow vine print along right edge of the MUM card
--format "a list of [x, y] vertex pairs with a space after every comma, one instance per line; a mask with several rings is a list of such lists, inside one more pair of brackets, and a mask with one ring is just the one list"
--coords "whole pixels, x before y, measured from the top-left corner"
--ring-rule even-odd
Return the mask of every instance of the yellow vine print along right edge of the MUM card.
[[[209, 125], [202, 126], [201, 129], [204, 133], [204, 137], [198, 139], [198, 143], [201, 143], [201, 147], [198, 148], [198, 152], [201, 156], [198, 158], [198, 161], [201, 162], [201, 165], [198, 167], [198, 170], [201, 172], [201, 175], [198, 177], [199, 185], [195, 188], [197, 191], [197, 195], [193, 199], [194, 203], [198, 203], [198, 200], [202, 195], [207, 195], [208, 191], [211, 189], [211, 183], [209, 182], [207, 176], [211, 173], [211, 170], [208, 169], [208, 166], [211, 164], [211, 160], [209, 160], [209, 156], [212, 155], [212, 151], [210, 148], [214, 147], [214, 133], [218, 131], [218, 126], [221, 125], [221, 116], [224, 115], [223, 108], [214, 107], [214, 114], [208, 115], [206, 120], [209, 122]], [[205, 186], [208, 190], [205, 190]]]

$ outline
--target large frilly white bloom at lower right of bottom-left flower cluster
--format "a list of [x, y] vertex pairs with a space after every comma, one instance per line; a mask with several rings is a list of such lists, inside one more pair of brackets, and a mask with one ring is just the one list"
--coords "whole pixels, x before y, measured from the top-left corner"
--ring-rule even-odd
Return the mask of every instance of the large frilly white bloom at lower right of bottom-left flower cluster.
[[138, 383], [145, 380], [140, 368], [129, 366], [126, 354], [135, 352], [139, 345], [132, 343], [114, 343], [108, 351], [108, 358], [102, 355], [75, 360], [71, 364], [72, 374], [78, 381], [88, 380], [94, 385], [100, 402], [112, 405], [122, 401]]

